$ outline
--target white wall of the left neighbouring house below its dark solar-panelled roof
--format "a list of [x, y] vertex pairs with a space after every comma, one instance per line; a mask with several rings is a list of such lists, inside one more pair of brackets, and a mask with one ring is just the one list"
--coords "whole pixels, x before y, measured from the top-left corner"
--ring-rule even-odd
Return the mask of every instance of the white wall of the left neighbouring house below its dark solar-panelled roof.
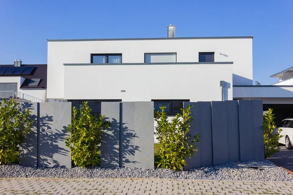
[[[37, 99], [33, 100], [32, 98], [38, 98], [45, 101], [46, 90], [45, 89], [21, 89], [21, 84], [23, 83], [24, 78], [22, 77], [0, 77], [0, 83], [17, 83], [17, 92], [21, 93], [21, 98], [24, 97], [26, 100], [30, 101], [39, 101]], [[28, 95], [28, 96], [27, 96]]]

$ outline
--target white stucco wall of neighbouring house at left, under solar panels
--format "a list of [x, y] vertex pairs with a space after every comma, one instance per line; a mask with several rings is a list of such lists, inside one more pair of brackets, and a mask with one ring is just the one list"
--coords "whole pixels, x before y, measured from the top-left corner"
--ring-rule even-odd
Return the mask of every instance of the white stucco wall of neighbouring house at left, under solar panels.
[[45, 99], [45, 90], [44, 89], [20, 89], [21, 84], [23, 83], [24, 79], [21, 77], [0, 77], [0, 83], [17, 83], [17, 90], [22, 94], [27, 94], [33, 96], [35, 98], [39, 98], [44, 100]]

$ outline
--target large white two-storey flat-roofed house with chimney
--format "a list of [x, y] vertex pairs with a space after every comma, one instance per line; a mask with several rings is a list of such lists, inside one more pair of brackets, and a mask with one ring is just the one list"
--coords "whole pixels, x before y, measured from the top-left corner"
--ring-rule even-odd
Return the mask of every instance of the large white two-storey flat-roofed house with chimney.
[[233, 99], [233, 85], [252, 85], [252, 38], [48, 39], [47, 98], [80, 108], [88, 101], [154, 101], [169, 115], [183, 101]]

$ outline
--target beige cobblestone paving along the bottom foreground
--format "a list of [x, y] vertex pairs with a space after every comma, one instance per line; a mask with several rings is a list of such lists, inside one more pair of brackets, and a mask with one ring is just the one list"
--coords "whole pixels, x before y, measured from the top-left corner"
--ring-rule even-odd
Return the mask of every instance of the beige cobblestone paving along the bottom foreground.
[[293, 182], [179, 179], [0, 179], [0, 195], [293, 195]]

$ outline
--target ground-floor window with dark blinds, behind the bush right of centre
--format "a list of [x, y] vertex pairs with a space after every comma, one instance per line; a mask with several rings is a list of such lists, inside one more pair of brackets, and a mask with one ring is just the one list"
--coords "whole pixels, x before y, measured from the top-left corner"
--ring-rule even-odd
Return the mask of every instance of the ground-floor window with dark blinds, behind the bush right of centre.
[[176, 115], [177, 113], [182, 113], [181, 108], [183, 108], [183, 102], [189, 101], [189, 99], [180, 99], [180, 100], [161, 100], [155, 99], [152, 101], [154, 102], [154, 111], [160, 111], [160, 107], [165, 106], [167, 115]]

